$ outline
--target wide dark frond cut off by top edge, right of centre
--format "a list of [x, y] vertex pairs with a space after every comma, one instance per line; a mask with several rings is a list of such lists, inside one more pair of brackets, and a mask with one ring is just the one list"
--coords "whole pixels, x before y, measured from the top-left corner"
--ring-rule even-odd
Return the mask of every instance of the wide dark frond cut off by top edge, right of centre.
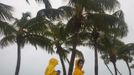
[[114, 10], [119, 8], [120, 4], [117, 0], [69, 0], [69, 5], [81, 6], [86, 11], [103, 12], [104, 10]]

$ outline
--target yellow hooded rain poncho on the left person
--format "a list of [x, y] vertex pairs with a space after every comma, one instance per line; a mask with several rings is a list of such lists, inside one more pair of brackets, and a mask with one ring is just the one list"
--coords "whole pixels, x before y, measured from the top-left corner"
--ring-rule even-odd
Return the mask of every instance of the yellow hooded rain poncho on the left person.
[[47, 66], [44, 75], [57, 75], [55, 71], [55, 66], [58, 64], [58, 60], [55, 58], [51, 58], [49, 61], [49, 65]]

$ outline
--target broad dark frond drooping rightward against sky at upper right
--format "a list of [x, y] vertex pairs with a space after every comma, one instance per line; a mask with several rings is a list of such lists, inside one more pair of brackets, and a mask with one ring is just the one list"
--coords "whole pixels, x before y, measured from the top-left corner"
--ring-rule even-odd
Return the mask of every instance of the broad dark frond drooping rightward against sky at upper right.
[[88, 23], [90, 26], [97, 28], [99, 31], [105, 33], [112, 33], [115, 36], [126, 36], [128, 28], [124, 20], [119, 17], [109, 14], [89, 14]]

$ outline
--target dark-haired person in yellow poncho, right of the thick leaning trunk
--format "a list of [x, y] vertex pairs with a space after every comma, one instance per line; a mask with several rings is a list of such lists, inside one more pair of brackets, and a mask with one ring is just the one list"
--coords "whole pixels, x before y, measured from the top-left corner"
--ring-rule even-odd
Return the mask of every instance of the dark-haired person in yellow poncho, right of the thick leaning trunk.
[[82, 70], [83, 64], [84, 60], [82, 59], [76, 61], [73, 75], [84, 75], [84, 71]]

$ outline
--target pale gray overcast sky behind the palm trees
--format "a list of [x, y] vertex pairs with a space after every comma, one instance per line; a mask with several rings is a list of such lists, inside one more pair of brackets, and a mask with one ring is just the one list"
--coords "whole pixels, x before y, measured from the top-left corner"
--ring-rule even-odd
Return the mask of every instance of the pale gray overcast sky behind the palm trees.
[[[22, 12], [31, 11], [32, 16], [36, 15], [36, 12], [39, 9], [42, 9], [44, 6], [36, 4], [34, 0], [30, 0], [31, 5], [26, 4], [25, 0], [0, 0], [1, 3], [5, 3], [15, 7], [14, 16], [21, 18]], [[59, 7], [63, 5], [64, 2], [61, 0], [51, 0], [53, 7]], [[126, 22], [128, 24], [129, 33], [128, 36], [123, 38], [126, 43], [134, 42], [134, 1], [133, 0], [120, 0], [121, 9], [125, 13]], [[85, 75], [94, 75], [94, 53], [89, 48], [79, 47], [78, 49], [82, 50], [85, 55]], [[21, 59], [21, 68], [20, 75], [43, 75], [44, 69], [48, 64], [48, 60], [51, 57], [56, 57], [57, 55], [50, 55], [45, 52], [45, 50], [38, 49], [27, 45], [22, 49], [22, 59]], [[110, 63], [110, 68], [113, 69], [113, 66]], [[11, 45], [10, 47], [0, 49], [0, 75], [14, 75], [16, 67], [16, 44]], [[117, 62], [117, 67], [123, 75], [128, 75], [128, 70], [126, 64], [122, 61]], [[61, 65], [56, 67], [56, 69], [61, 70]], [[132, 70], [134, 74], [134, 70]], [[110, 75], [109, 71], [103, 64], [103, 61], [99, 59], [99, 75]]]

